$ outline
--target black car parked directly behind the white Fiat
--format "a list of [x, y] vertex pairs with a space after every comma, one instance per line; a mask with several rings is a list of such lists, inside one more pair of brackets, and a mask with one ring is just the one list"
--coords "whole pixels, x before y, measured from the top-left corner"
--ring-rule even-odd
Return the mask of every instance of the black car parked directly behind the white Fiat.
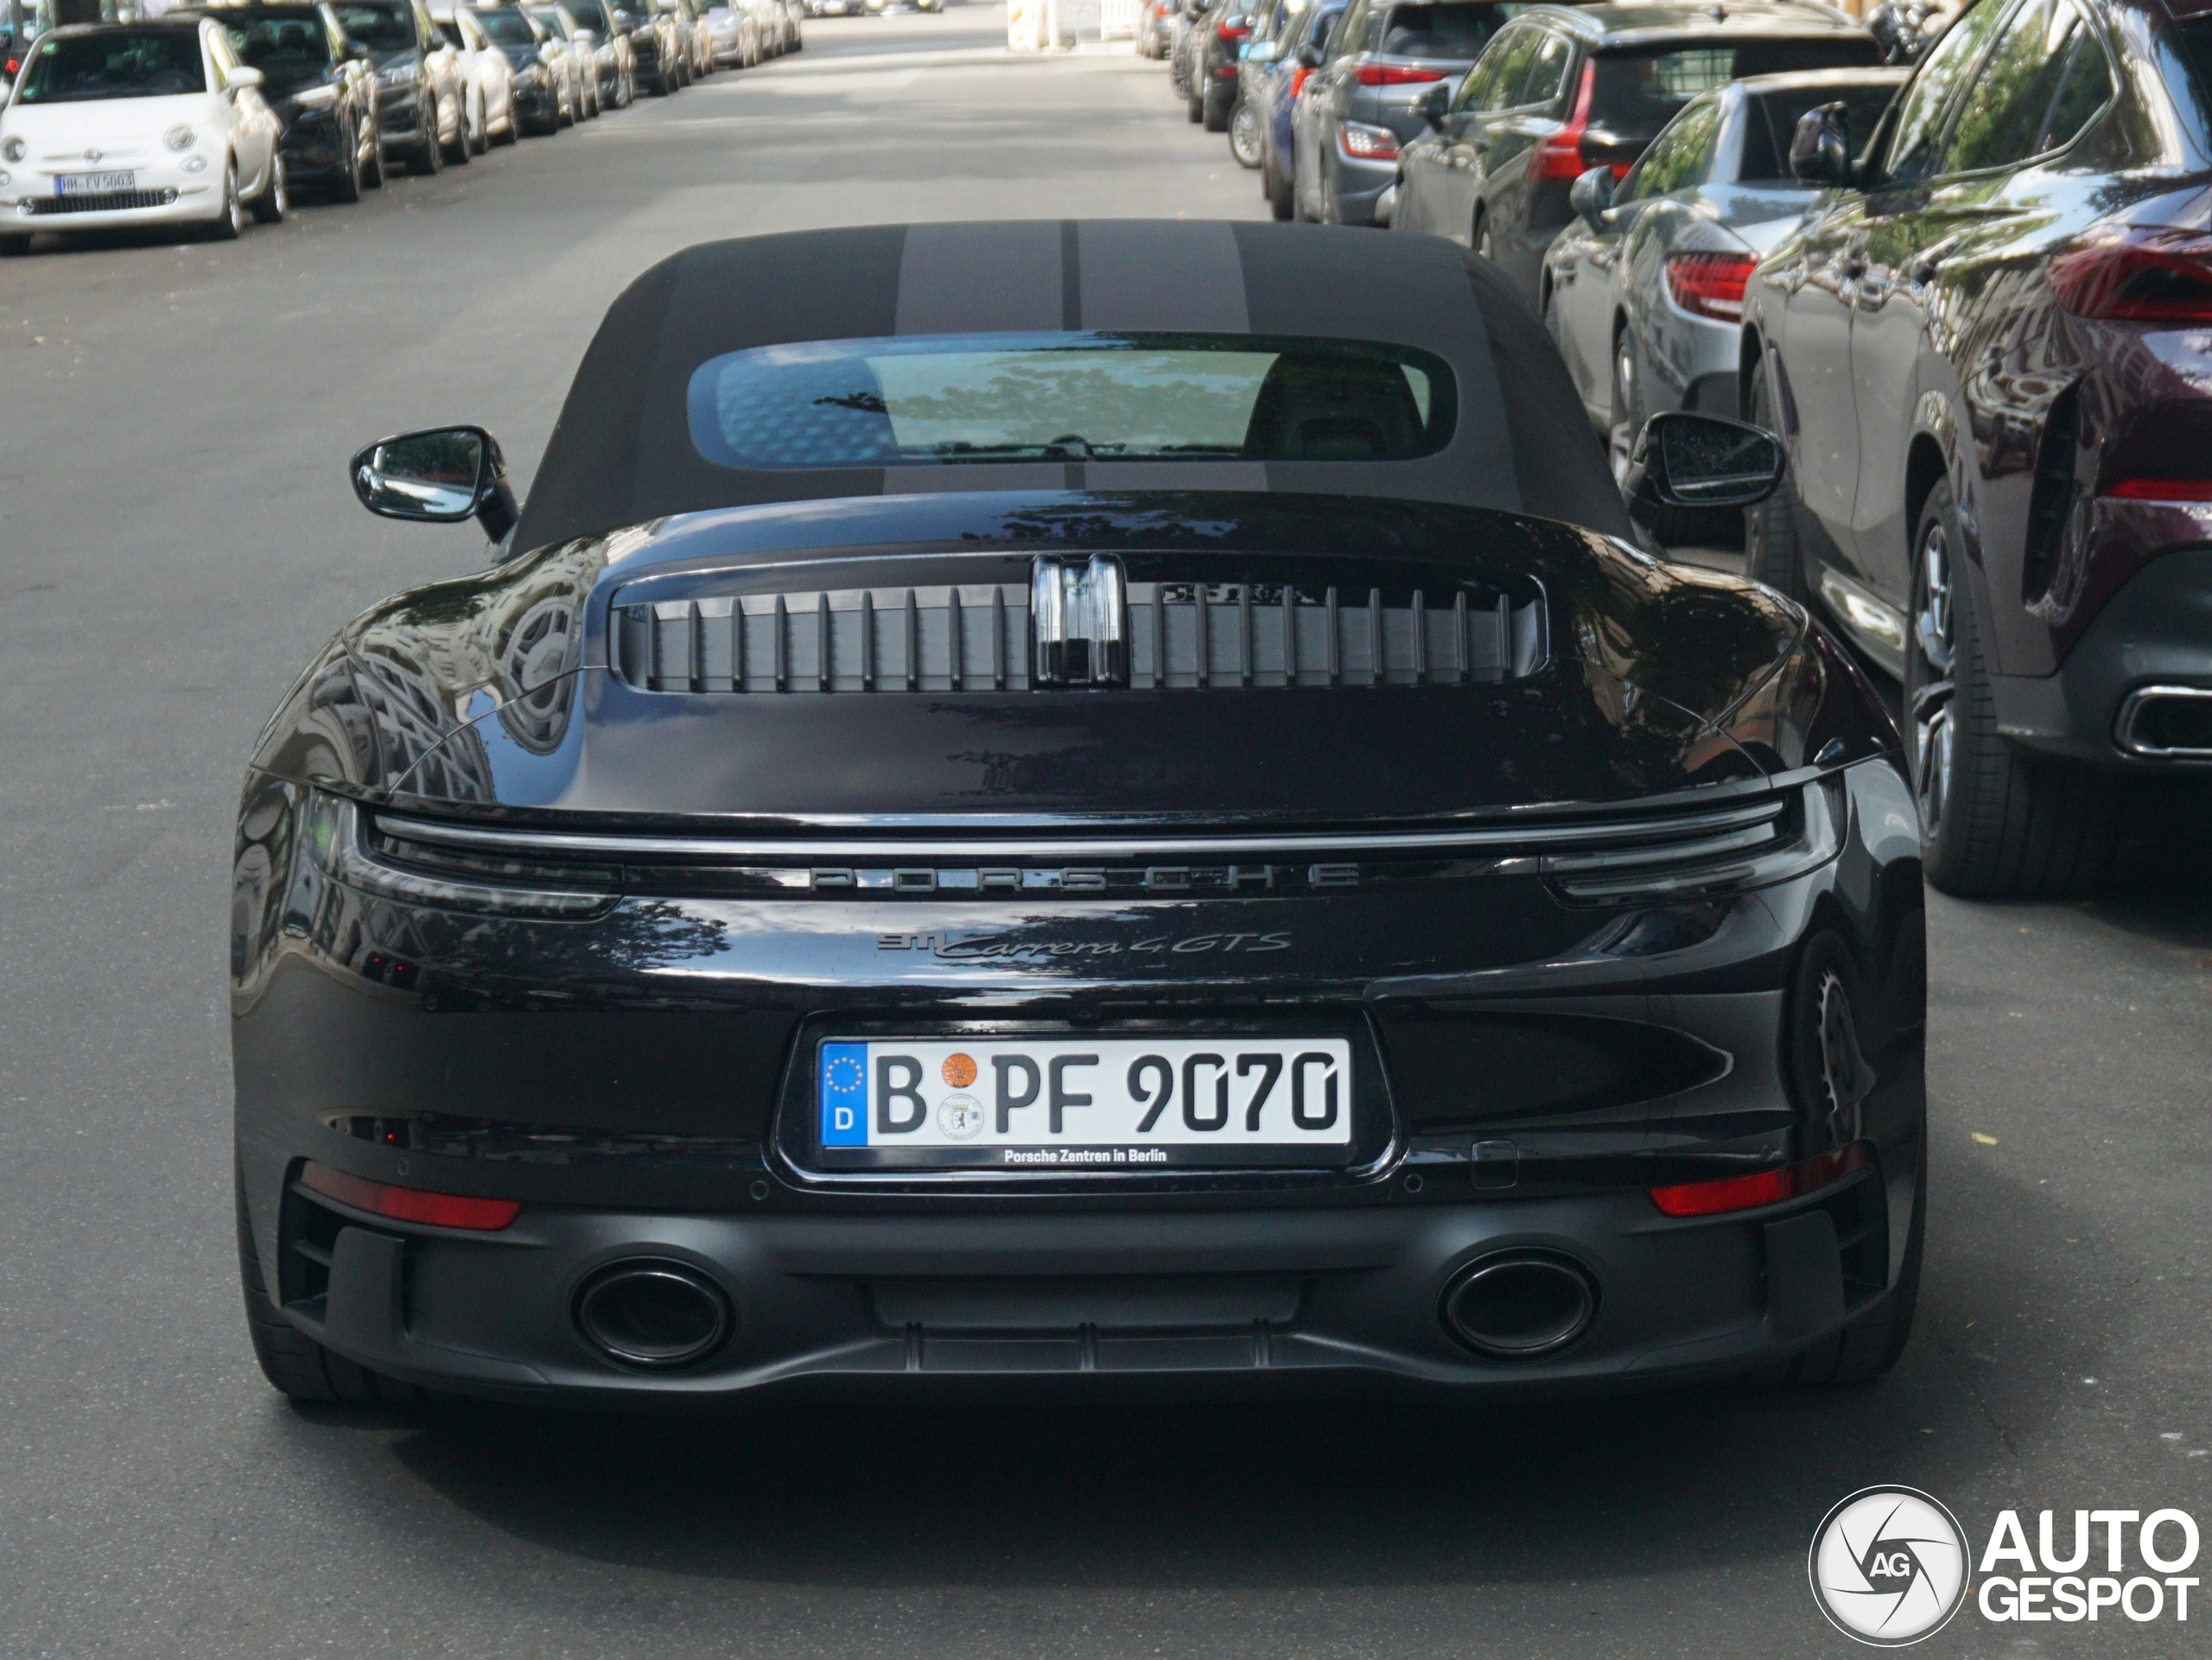
[[223, 24], [232, 51], [261, 71], [261, 97], [283, 124], [285, 188], [321, 190], [332, 201], [361, 201], [385, 181], [376, 146], [376, 66], [369, 49], [347, 40], [327, 4], [223, 7], [177, 11]]

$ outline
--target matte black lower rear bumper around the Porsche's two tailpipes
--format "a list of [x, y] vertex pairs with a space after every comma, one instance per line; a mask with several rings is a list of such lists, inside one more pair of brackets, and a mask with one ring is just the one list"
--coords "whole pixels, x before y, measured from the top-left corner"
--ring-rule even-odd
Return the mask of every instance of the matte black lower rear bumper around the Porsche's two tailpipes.
[[[529, 1208], [502, 1235], [405, 1228], [292, 1189], [285, 1315], [387, 1377], [498, 1399], [710, 1403], [792, 1379], [1396, 1377], [1486, 1392], [1719, 1379], [1776, 1363], [1869, 1306], [1896, 1270], [1902, 1186], [1867, 1169], [1772, 1211], [1661, 1217], [1641, 1193], [1367, 1211], [1119, 1215], [659, 1215]], [[336, 1233], [332, 1235], [332, 1228]], [[292, 1242], [330, 1242], [310, 1286]], [[1473, 1264], [1542, 1251], [1597, 1286], [1553, 1357], [1486, 1359], [1444, 1326]], [[577, 1293], [646, 1257], [703, 1275], [734, 1335], [641, 1372], [580, 1330]], [[312, 1273], [312, 1270], [310, 1270]]]

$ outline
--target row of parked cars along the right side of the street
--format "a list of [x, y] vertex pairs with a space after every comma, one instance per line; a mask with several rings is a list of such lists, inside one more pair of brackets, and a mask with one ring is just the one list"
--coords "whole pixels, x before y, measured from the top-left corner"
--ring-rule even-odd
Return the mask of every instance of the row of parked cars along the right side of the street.
[[[1781, 434], [1750, 573], [1900, 686], [1927, 874], [2077, 892], [2212, 772], [2212, 0], [1157, 0], [1283, 219], [1449, 237], [1615, 474]], [[1907, 62], [1898, 62], [1898, 60]]]

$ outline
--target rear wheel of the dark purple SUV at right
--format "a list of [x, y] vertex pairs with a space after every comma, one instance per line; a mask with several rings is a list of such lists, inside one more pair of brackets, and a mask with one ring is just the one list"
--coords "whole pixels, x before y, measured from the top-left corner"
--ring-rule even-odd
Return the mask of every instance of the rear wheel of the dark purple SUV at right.
[[2031, 759], [1997, 733], [1951, 480], [1913, 529], [1905, 753], [1927, 879], [1960, 899], [2088, 894], [2112, 876], [2124, 779]]

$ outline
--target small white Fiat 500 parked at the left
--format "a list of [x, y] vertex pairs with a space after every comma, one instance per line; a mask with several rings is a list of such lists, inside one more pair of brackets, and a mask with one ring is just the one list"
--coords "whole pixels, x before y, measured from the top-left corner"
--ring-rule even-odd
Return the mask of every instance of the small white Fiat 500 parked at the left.
[[288, 208], [261, 71], [210, 20], [55, 29], [0, 108], [0, 252], [40, 230], [201, 224]]

